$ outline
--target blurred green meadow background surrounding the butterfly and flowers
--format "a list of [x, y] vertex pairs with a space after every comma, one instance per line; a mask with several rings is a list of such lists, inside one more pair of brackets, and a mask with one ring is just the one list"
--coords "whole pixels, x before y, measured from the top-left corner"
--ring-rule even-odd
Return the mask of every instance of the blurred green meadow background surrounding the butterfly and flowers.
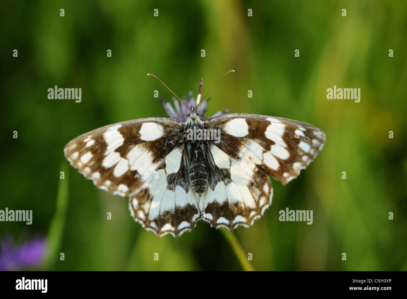
[[[63, 157], [66, 143], [92, 129], [165, 117], [153, 92], [172, 95], [147, 73], [186, 96], [196, 95], [201, 77], [206, 94], [234, 69], [211, 93], [207, 116], [229, 108], [308, 122], [326, 133], [322, 152], [298, 179], [284, 187], [271, 179], [274, 199], [265, 214], [232, 231], [244, 255], [252, 253], [252, 267], [407, 270], [407, 2], [13, 1], [1, 7], [0, 209], [33, 210], [33, 224], [1, 222], [0, 237], [20, 243], [48, 237], [48, 262], [40, 269], [243, 269], [221, 230], [199, 221], [180, 238], [158, 238], [133, 222], [128, 199], [96, 189]], [[55, 85], [82, 88], [82, 102], [49, 100], [47, 89]], [[328, 100], [333, 85], [361, 88], [360, 103]], [[286, 207], [313, 210], [313, 224], [280, 222]]]

